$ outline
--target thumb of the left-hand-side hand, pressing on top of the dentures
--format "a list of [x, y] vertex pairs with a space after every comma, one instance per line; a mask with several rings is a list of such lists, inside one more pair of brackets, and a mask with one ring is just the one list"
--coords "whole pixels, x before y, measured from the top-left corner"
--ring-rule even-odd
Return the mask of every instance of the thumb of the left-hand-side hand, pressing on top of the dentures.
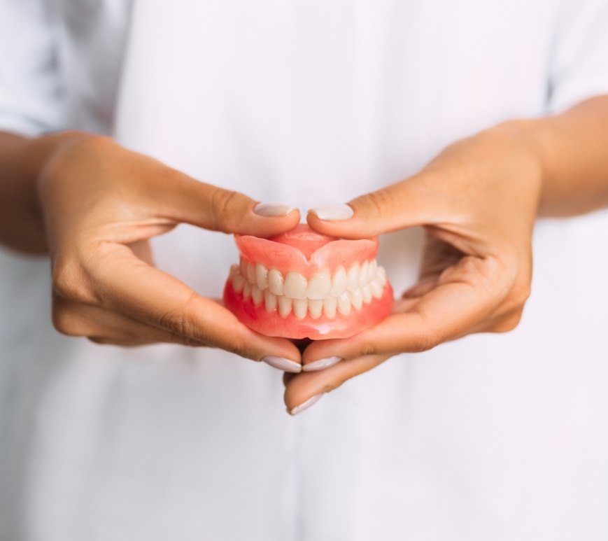
[[295, 206], [258, 203], [240, 192], [225, 190], [185, 175], [171, 179], [158, 204], [161, 213], [180, 222], [225, 233], [273, 237], [299, 223]]

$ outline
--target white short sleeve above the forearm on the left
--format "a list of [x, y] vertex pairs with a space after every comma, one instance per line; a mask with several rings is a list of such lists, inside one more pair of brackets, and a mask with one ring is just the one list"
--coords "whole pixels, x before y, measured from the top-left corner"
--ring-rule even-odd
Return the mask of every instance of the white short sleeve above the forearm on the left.
[[47, 0], [0, 0], [0, 131], [62, 128], [57, 50]]

